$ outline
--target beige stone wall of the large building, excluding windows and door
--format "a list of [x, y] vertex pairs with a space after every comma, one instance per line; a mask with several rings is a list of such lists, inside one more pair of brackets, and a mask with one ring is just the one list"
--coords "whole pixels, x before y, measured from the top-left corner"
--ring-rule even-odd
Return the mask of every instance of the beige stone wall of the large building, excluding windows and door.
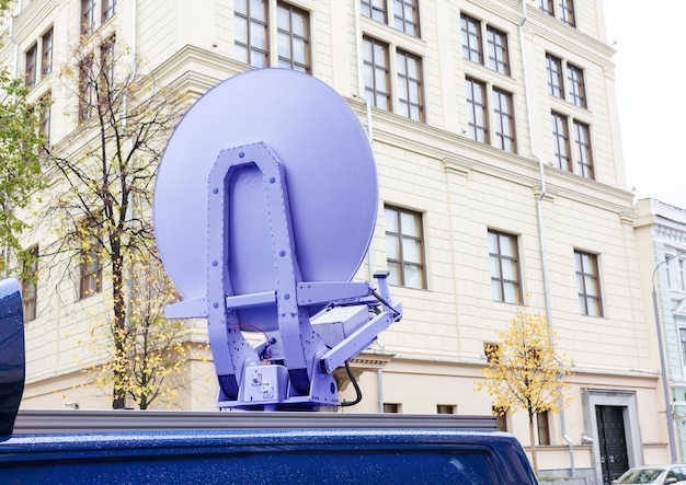
[[[540, 160], [546, 182], [540, 207], [550, 322], [558, 345], [575, 366], [570, 390], [574, 401], [564, 422], [567, 434], [576, 447], [576, 466], [592, 469], [598, 463], [593, 447], [580, 441], [582, 432], [591, 431], [585, 429], [591, 412], [583, 405], [582, 390], [586, 389], [633, 393], [640, 417], [638, 455], [645, 462], [666, 461], [659, 362], [647, 316], [650, 303], [641, 291], [641, 261], [631, 227], [632, 197], [624, 180], [613, 49], [604, 44], [596, 2], [574, 2], [578, 28], [563, 26], [559, 20], [538, 11], [535, 3], [527, 2], [523, 39], [519, 37], [522, 2], [515, 0], [420, 0], [422, 38], [369, 19], [356, 21], [353, 0], [291, 3], [311, 13], [313, 74], [345, 96], [363, 124], [370, 125], [374, 132], [380, 183], [379, 216], [384, 204], [423, 215], [427, 288], [392, 288], [393, 298], [403, 302], [405, 313], [401, 322], [379, 336], [385, 351], [395, 356], [381, 372], [384, 402], [400, 404], [403, 413], [435, 413], [437, 404], [456, 405], [460, 414], [490, 412], [489, 396], [473, 392], [485, 362], [482, 344], [493, 340], [495, 332], [507, 325], [515, 307], [491, 298], [487, 231], [496, 229], [519, 236], [523, 289], [530, 293], [530, 304], [544, 311], [537, 207], [541, 196]], [[132, 2], [119, 2], [118, 13], [103, 28], [116, 28], [117, 42], [135, 46], [141, 58], [140, 71], [155, 72], [164, 84], [184, 86], [194, 97], [247, 68], [232, 60], [231, 1], [146, 0], [137, 4], [134, 15]], [[56, 66], [69, 60], [68, 47], [77, 39], [78, 9], [76, 0], [33, 0], [25, 5], [14, 24], [20, 73], [24, 50], [49, 25], [55, 28]], [[462, 11], [507, 33], [512, 76], [496, 74], [462, 58], [459, 31]], [[425, 124], [378, 109], [371, 109], [370, 118], [367, 117], [359, 100], [356, 27], [361, 33], [387, 41], [392, 49], [402, 48], [422, 57]], [[547, 51], [584, 69], [587, 109], [548, 95]], [[5, 41], [0, 59], [13, 66], [12, 43]], [[53, 90], [53, 140], [72, 142], [76, 105], [70, 90], [73, 86], [64, 85], [57, 74], [56, 71], [42, 80], [34, 95], [38, 97], [47, 88]], [[477, 143], [465, 136], [466, 74], [513, 92], [517, 154]], [[591, 125], [595, 180], [550, 166], [551, 109]], [[45, 197], [44, 204], [48, 204], [49, 192]], [[36, 227], [26, 235], [26, 244], [49, 236], [47, 226]], [[599, 255], [603, 317], [580, 315], [574, 250]], [[385, 266], [385, 227], [384, 218], [379, 217], [368, 258], [358, 277], [369, 279], [374, 270]], [[53, 289], [58, 290], [59, 298], [46, 300], [44, 296]], [[79, 370], [102, 358], [89, 354], [82, 343], [103, 297], [77, 301], [73, 279], [55, 274], [41, 280], [38, 298], [39, 316], [26, 325], [28, 386], [23, 406], [61, 407], [68, 402], [79, 402], [82, 407], [108, 407], [110, 402], [102, 393], [75, 389], [87, 379]], [[193, 361], [188, 372], [194, 376], [194, 384], [180, 397], [179, 407], [211, 408], [216, 384], [208, 363]], [[208, 372], [210, 379], [206, 381]], [[196, 374], [203, 377], [195, 379]], [[363, 373], [364, 401], [343, 412], [377, 412], [377, 379], [374, 371]], [[348, 386], [343, 397], [352, 396]], [[528, 442], [522, 413], [510, 416], [508, 426], [524, 443]], [[569, 467], [559, 417], [553, 419], [552, 427], [553, 446], [539, 458], [541, 467]]]

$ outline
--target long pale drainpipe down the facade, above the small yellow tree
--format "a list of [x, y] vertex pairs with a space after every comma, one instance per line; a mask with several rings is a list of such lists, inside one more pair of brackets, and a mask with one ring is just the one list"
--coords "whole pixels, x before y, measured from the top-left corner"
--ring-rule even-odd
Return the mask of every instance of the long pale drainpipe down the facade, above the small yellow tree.
[[[528, 124], [528, 129], [531, 139], [531, 157], [538, 161], [538, 176], [540, 180], [540, 195], [536, 198], [536, 210], [538, 215], [538, 241], [540, 244], [540, 262], [541, 262], [541, 273], [544, 277], [544, 297], [546, 303], [546, 322], [548, 325], [548, 334], [550, 338], [550, 343], [553, 344], [552, 340], [552, 311], [550, 304], [550, 282], [548, 280], [548, 262], [546, 259], [546, 236], [544, 231], [544, 207], [542, 200], [546, 197], [546, 172], [544, 166], [544, 161], [536, 153], [535, 148], [535, 136], [531, 131], [531, 107], [529, 104], [529, 85], [528, 78], [526, 76], [527, 66], [526, 66], [526, 53], [524, 48], [524, 24], [527, 21], [526, 16], [526, 0], [522, 0], [522, 22], [519, 23], [519, 49], [522, 51], [522, 65], [524, 72], [524, 94], [526, 102], [526, 122]], [[561, 384], [560, 384], [561, 385]], [[567, 446], [569, 448], [569, 457], [570, 457], [570, 471], [571, 476], [576, 475], [576, 467], [574, 465], [574, 442], [567, 434], [567, 420], [564, 418], [564, 408], [560, 406], [560, 430], [562, 432], [562, 438], [567, 441]]]

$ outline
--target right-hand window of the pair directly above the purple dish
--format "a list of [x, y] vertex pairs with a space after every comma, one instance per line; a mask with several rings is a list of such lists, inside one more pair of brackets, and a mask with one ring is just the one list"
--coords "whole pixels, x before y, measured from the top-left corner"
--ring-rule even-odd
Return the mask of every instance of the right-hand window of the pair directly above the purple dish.
[[309, 16], [295, 7], [278, 4], [278, 67], [310, 71]]

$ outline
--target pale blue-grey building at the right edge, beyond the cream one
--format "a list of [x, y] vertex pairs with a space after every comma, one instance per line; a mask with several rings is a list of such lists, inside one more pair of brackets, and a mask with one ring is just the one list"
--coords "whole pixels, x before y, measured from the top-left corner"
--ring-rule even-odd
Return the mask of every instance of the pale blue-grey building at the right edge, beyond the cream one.
[[653, 301], [661, 326], [658, 338], [663, 340], [668, 377], [674, 451], [683, 462], [686, 460], [686, 210], [650, 198], [639, 200], [636, 209], [641, 279], [651, 284], [644, 287], [643, 299]]

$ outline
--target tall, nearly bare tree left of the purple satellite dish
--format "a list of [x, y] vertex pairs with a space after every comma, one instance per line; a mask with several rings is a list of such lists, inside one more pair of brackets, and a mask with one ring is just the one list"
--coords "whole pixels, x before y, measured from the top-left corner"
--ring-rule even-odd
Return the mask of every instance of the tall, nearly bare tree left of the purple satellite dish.
[[[127, 276], [139, 261], [130, 255], [155, 257], [153, 181], [185, 106], [179, 93], [140, 74], [114, 35], [82, 38], [70, 57], [60, 76], [78, 99], [78, 130], [68, 142], [46, 149], [54, 204], [44, 217], [59, 229], [43, 254], [52, 257], [53, 269], [79, 268], [80, 298], [111, 288], [110, 333], [121, 361], [130, 335]], [[111, 281], [103, 285], [103, 278]], [[112, 372], [113, 407], [121, 408], [130, 379], [121, 366]]]

